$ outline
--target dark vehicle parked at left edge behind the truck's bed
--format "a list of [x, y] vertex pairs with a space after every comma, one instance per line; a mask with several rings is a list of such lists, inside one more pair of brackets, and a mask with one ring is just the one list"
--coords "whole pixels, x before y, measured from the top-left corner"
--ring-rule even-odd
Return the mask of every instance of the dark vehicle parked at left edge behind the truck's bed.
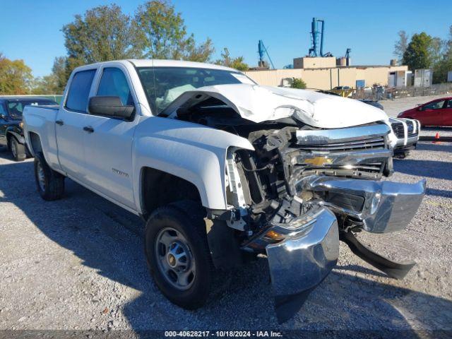
[[7, 146], [16, 161], [25, 160], [27, 155], [22, 130], [22, 112], [26, 105], [58, 104], [39, 97], [0, 97], [0, 146]]

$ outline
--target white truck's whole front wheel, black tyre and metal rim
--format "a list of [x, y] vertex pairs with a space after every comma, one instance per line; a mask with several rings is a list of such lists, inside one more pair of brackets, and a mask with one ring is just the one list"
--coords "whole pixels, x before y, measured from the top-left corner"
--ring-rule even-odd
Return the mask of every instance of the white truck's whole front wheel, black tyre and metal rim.
[[184, 309], [201, 307], [210, 294], [213, 264], [203, 210], [191, 201], [157, 208], [145, 230], [145, 256], [163, 295]]

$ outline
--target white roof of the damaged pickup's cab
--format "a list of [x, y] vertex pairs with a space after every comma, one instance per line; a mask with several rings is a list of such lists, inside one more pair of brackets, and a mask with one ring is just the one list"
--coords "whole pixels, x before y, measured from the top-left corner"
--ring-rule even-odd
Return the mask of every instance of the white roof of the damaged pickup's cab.
[[124, 60], [112, 60], [112, 61], [102, 61], [95, 64], [87, 64], [84, 66], [77, 67], [76, 69], [84, 69], [87, 66], [94, 65], [105, 65], [105, 64], [126, 64], [131, 63], [136, 67], [193, 67], [201, 69], [222, 69], [224, 71], [237, 72], [237, 69], [231, 69], [229, 67], [207, 64], [204, 62], [195, 61], [182, 61], [182, 60], [162, 60], [162, 59], [124, 59]]

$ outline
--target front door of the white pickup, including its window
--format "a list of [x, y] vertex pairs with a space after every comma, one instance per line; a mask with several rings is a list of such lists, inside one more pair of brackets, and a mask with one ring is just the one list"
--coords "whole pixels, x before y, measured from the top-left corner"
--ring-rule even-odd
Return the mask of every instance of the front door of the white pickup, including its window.
[[[129, 73], [121, 64], [104, 66], [94, 95], [116, 96], [123, 105], [137, 105]], [[133, 198], [132, 141], [138, 112], [126, 120], [87, 114], [83, 122], [85, 182], [100, 194], [136, 209]]]

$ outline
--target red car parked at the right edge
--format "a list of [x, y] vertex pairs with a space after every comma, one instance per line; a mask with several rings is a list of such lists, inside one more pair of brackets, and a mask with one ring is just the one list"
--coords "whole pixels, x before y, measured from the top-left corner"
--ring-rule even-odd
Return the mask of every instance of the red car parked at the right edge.
[[452, 97], [432, 100], [408, 109], [397, 117], [417, 119], [422, 126], [452, 126]]

